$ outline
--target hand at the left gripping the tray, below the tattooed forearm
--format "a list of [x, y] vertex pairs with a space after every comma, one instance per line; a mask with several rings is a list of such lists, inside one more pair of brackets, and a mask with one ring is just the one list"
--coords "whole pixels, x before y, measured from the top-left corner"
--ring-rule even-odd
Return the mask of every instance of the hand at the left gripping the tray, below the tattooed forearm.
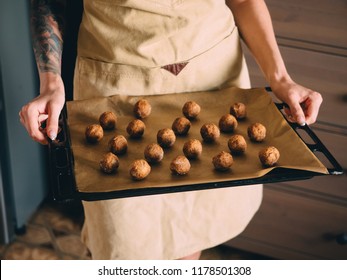
[[[59, 115], [65, 103], [61, 78], [54, 83], [41, 84], [40, 92], [39, 96], [22, 107], [19, 116], [30, 137], [41, 144], [47, 144], [46, 136], [52, 140], [57, 137]], [[41, 128], [43, 121], [46, 121], [45, 130]]]

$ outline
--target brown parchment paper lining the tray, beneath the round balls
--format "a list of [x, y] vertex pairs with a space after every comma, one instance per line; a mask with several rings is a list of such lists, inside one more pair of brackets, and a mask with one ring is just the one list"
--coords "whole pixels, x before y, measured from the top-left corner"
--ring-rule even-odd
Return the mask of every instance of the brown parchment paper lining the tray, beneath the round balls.
[[[133, 106], [140, 98], [146, 98], [152, 105], [151, 115], [144, 119], [146, 130], [141, 139], [129, 138], [126, 127], [135, 117]], [[159, 164], [151, 165], [151, 173], [142, 181], [134, 181], [129, 175], [129, 166], [135, 159], [144, 158], [147, 144], [156, 143], [159, 129], [171, 128], [175, 118], [183, 116], [182, 107], [186, 101], [194, 100], [201, 106], [201, 113], [192, 121], [187, 136], [178, 136], [172, 148], [164, 150], [164, 159]], [[229, 151], [228, 139], [232, 134], [221, 133], [217, 143], [207, 144], [202, 141], [200, 128], [204, 123], [213, 122], [218, 125], [222, 115], [229, 113], [235, 102], [243, 102], [247, 106], [247, 118], [239, 121], [232, 134], [245, 137], [248, 149], [245, 155], [234, 156], [234, 164], [230, 171], [217, 172], [213, 168], [212, 157], [220, 151]], [[117, 128], [105, 131], [104, 138], [97, 144], [85, 141], [84, 131], [87, 125], [98, 123], [101, 113], [113, 111], [118, 116]], [[212, 92], [194, 92], [169, 95], [149, 96], [111, 96], [82, 101], [67, 102], [68, 126], [71, 135], [71, 147], [74, 156], [75, 179], [79, 192], [114, 192], [139, 188], [156, 188], [184, 186], [201, 183], [257, 178], [270, 172], [273, 168], [284, 167], [327, 174], [326, 167], [307, 148], [295, 131], [288, 125], [280, 111], [276, 108], [265, 89], [243, 90], [228, 88]], [[251, 142], [247, 136], [247, 127], [260, 122], [267, 128], [264, 142]], [[128, 140], [128, 152], [119, 156], [120, 167], [115, 174], [106, 175], [99, 169], [99, 161], [108, 152], [108, 141], [115, 135], [124, 135]], [[177, 176], [170, 172], [170, 162], [183, 155], [183, 144], [188, 139], [202, 141], [203, 152], [199, 159], [191, 160], [191, 170], [187, 175]], [[272, 168], [263, 168], [258, 152], [266, 146], [275, 146], [280, 151], [278, 164]]]

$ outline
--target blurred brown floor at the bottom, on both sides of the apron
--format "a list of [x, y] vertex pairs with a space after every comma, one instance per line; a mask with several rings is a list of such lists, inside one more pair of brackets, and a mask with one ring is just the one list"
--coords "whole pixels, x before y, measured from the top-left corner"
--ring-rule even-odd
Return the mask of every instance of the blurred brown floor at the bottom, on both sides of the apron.
[[[2, 260], [89, 260], [80, 240], [83, 210], [79, 203], [44, 202], [26, 225], [26, 232], [0, 245]], [[265, 256], [218, 246], [203, 252], [203, 260], [256, 260]]]

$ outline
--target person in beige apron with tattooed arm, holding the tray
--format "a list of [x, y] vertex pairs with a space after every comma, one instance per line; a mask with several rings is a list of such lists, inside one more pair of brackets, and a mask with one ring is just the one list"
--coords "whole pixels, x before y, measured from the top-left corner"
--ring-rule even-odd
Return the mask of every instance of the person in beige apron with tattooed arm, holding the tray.
[[[65, 102], [64, 3], [32, 0], [31, 10], [40, 94], [19, 115], [46, 144]], [[288, 117], [314, 123], [322, 96], [291, 79], [262, 0], [84, 0], [74, 99], [249, 88], [239, 34]], [[82, 239], [94, 259], [198, 259], [240, 234], [261, 200], [262, 185], [253, 185], [84, 201]]]

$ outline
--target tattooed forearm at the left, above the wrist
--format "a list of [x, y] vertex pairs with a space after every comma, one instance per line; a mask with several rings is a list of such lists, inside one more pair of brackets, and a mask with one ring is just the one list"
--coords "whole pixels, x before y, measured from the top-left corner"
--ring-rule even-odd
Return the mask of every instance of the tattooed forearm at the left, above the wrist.
[[65, 1], [32, 0], [31, 33], [36, 62], [41, 72], [61, 72]]

